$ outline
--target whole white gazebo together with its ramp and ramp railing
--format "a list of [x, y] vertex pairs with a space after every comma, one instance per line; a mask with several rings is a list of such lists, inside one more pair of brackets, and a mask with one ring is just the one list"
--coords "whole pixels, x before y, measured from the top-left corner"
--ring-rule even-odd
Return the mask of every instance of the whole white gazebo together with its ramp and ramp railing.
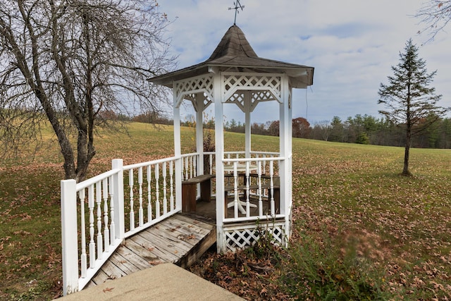
[[[150, 78], [173, 90], [174, 155], [130, 165], [113, 159], [110, 171], [80, 183], [61, 180], [63, 294], [82, 290], [96, 275], [100, 277], [96, 281], [101, 281], [102, 275], [109, 275], [101, 271], [104, 268], [122, 275], [132, 272], [128, 266], [152, 266], [149, 258], [161, 257], [165, 262], [194, 258], [187, 252], [199, 251], [201, 245], [209, 247], [214, 241], [211, 223], [183, 214], [197, 210], [198, 198], [216, 202], [218, 252], [252, 245], [262, 233], [288, 245], [292, 88], [307, 88], [313, 73], [313, 67], [259, 58], [240, 28], [233, 25], [208, 60]], [[197, 151], [191, 154], [182, 154], [180, 145], [184, 101], [192, 102], [196, 111]], [[278, 104], [278, 152], [252, 148], [251, 114], [260, 102]], [[214, 104], [216, 150], [204, 152], [202, 113], [210, 104]], [[224, 104], [235, 104], [245, 113], [243, 150], [226, 149]], [[204, 162], [205, 158], [209, 160]], [[160, 229], [159, 224], [165, 222], [171, 226]], [[199, 223], [204, 228], [195, 226]], [[173, 233], [183, 227], [180, 235]], [[191, 239], [193, 245], [186, 241]], [[118, 261], [119, 250], [136, 262], [123, 264], [125, 257]]]

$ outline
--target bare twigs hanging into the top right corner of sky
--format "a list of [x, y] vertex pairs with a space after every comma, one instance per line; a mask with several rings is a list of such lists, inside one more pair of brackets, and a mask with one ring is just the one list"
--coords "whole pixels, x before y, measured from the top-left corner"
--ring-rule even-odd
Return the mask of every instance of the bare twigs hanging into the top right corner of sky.
[[417, 11], [415, 17], [420, 18], [421, 23], [425, 25], [424, 30], [419, 30], [418, 33], [428, 32], [429, 42], [450, 22], [451, 0], [429, 0]]

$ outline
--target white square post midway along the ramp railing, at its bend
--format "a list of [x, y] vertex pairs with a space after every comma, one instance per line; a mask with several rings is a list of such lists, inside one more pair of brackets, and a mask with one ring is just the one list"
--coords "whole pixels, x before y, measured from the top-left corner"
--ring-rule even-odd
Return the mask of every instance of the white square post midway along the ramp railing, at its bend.
[[120, 169], [118, 173], [113, 176], [113, 203], [114, 203], [114, 224], [116, 233], [113, 233], [114, 238], [124, 240], [125, 238], [125, 214], [124, 214], [124, 172], [123, 160], [113, 159], [111, 161], [113, 169]]

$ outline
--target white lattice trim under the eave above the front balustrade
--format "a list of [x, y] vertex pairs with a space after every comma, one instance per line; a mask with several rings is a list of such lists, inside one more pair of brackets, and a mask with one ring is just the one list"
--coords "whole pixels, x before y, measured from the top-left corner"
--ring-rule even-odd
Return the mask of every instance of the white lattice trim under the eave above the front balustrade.
[[[232, 97], [237, 90], [260, 90], [257, 94], [259, 101], [269, 100], [273, 97], [280, 102], [281, 100], [281, 78], [280, 75], [261, 75], [259, 73], [244, 73], [242, 75], [228, 74], [223, 75], [223, 93], [224, 99]], [[259, 98], [261, 97], [261, 98]]]

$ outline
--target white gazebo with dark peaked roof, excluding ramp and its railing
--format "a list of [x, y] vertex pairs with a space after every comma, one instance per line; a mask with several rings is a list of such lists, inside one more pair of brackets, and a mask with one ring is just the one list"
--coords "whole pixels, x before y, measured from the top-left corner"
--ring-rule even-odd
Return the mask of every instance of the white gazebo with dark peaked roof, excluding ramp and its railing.
[[[312, 85], [313, 75], [313, 67], [260, 58], [242, 30], [233, 25], [206, 61], [149, 79], [173, 90], [175, 157], [183, 157], [180, 105], [192, 102], [196, 111], [194, 175], [185, 178], [180, 160], [175, 164], [175, 183], [199, 178], [194, 183], [200, 188], [202, 181], [214, 178], [218, 252], [251, 245], [261, 233], [259, 226], [287, 245], [292, 207], [292, 88]], [[252, 149], [251, 114], [260, 102], [278, 103], [278, 153]], [[210, 104], [214, 104], [216, 151], [204, 152], [203, 112]], [[224, 104], [235, 104], [245, 113], [244, 152], [226, 149]], [[204, 166], [204, 156], [209, 156], [209, 166]], [[202, 177], [204, 171], [211, 176]], [[182, 190], [175, 190], [175, 199], [182, 199]]]

